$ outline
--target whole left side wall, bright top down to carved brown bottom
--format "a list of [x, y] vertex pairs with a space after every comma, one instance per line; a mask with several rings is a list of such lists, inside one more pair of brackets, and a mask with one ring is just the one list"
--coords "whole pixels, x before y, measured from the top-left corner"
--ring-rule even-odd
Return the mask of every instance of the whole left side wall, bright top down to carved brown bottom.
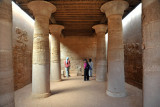
[[34, 21], [12, 2], [12, 46], [15, 90], [31, 83]]

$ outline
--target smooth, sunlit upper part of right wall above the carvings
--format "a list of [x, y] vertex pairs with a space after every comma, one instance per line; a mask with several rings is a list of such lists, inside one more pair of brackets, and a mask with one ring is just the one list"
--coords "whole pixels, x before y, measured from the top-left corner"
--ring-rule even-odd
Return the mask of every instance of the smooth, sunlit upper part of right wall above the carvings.
[[132, 12], [130, 12], [123, 19], [122, 24], [124, 42], [141, 43], [141, 14], [142, 4], [140, 3]]

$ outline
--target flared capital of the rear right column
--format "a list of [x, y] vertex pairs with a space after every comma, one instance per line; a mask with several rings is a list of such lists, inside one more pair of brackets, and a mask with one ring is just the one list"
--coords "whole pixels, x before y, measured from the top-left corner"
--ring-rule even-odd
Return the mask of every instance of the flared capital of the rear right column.
[[96, 34], [97, 33], [106, 33], [107, 25], [98, 24], [98, 25], [94, 25], [92, 28], [95, 30]]

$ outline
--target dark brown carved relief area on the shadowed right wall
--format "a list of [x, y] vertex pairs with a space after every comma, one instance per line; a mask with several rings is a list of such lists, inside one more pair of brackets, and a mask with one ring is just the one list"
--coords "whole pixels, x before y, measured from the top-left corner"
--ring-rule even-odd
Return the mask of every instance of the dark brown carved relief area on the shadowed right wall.
[[126, 81], [142, 88], [142, 49], [139, 43], [124, 45], [124, 62]]

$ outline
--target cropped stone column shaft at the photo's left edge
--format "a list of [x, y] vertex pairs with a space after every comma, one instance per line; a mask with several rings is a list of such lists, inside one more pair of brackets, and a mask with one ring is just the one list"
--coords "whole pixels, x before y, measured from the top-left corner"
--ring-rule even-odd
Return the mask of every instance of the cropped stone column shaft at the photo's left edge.
[[0, 0], [0, 107], [14, 107], [12, 4]]

